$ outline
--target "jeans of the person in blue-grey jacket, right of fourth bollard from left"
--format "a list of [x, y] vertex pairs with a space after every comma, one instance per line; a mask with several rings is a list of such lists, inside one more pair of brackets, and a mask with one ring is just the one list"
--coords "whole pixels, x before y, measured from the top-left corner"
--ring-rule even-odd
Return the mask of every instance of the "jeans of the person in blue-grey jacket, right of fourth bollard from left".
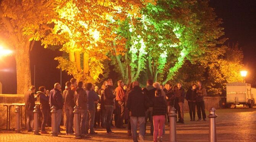
[[85, 131], [88, 133], [88, 129], [90, 129], [90, 133], [94, 132], [94, 118], [95, 118], [95, 109], [87, 109], [86, 120], [85, 120]]

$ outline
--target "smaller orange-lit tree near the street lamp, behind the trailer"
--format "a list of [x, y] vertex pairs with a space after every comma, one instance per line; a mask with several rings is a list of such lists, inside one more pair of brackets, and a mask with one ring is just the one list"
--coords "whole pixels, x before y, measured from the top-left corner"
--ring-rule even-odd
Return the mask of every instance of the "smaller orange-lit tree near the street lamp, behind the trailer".
[[195, 63], [187, 60], [171, 81], [181, 82], [188, 89], [201, 80], [210, 95], [225, 94], [227, 83], [243, 81], [243, 52], [238, 44], [215, 47], [203, 57]]

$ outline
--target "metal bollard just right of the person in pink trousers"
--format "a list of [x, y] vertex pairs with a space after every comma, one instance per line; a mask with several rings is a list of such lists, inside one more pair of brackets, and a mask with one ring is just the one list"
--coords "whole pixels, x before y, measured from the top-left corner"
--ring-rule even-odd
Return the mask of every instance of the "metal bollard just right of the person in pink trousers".
[[175, 108], [172, 107], [169, 110], [169, 120], [170, 120], [170, 136], [169, 136], [169, 142], [177, 142], [177, 136], [176, 136], [176, 116]]

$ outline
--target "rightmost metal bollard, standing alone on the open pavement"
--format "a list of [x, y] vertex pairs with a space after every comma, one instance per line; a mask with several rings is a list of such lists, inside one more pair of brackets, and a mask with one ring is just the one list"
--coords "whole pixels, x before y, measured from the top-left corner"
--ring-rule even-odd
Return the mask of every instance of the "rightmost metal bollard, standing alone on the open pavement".
[[209, 118], [209, 142], [217, 142], [216, 137], [216, 121], [215, 118], [217, 115], [215, 114], [215, 109], [212, 107], [209, 109], [210, 114], [208, 115]]

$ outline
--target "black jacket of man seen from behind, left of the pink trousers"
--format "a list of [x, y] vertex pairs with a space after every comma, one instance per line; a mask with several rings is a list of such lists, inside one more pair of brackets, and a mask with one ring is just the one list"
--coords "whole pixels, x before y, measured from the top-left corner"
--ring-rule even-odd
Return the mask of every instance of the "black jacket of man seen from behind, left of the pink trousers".
[[128, 94], [127, 108], [131, 117], [145, 117], [146, 95], [139, 86], [135, 86]]

